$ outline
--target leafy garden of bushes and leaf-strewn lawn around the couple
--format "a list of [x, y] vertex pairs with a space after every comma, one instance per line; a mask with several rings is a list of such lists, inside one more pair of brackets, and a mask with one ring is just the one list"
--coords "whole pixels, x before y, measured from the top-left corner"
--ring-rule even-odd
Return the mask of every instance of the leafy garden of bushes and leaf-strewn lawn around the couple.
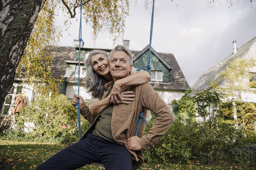
[[[175, 122], [157, 145], [143, 151], [145, 163], [140, 169], [255, 169], [256, 106], [237, 102], [238, 120], [234, 121], [232, 103], [217, 88], [196, 94], [187, 91], [182, 99], [174, 100]], [[64, 95], [37, 98], [23, 107], [15, 115], [14, 130], [1, 133], [0, 168], [36, 169], [78, 141], [76, 116], [76, 109]], [[154, 120], [153, 114], [145, 133]], [[90, 123], [81, 118], [81, 126], [84, 133]], [[102, 168], [87, 165], [81, 169]]]

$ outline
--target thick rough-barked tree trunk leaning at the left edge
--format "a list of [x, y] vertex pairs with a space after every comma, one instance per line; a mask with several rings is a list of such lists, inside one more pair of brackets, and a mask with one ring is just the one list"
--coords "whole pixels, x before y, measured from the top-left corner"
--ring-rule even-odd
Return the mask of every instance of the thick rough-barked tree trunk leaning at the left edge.
[[45, 0], [0, 2], [0, 109]]

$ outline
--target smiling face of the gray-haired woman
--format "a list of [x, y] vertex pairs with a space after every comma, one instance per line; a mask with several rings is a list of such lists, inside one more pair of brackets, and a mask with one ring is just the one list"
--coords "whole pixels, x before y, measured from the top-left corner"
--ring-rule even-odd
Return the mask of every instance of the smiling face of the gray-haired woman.
[[109, 73], [108, 58], [102, 54], [95, 54], [91, 57], [93, 70], [103, 77]]

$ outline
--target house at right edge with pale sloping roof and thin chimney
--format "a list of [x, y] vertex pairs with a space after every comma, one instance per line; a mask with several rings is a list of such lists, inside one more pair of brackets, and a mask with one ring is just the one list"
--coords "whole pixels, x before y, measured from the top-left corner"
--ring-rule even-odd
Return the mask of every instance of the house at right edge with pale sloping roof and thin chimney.
[[[191, 89], [195, 93], [198, 90], [202, 89], [209, 89], [211, 83], [217, 83], [218, 87], [225, 88], [226, 87], [226, 80], [223, 79], [221, 73], [225, 71], [230, 64], [236, 58], [255, 58], [256, 59], [256, 37], [248, 41], [240, 48], [236, 48], [236, 41], [233, 41], [234, 44], [234, 52], [231, 53], [229, 56], [224, 58], [218, 64], [214, 65], [211, 69], [206, 71], [198, 78], [198, 80], [193, 84]], [[249, 80], [244, 81], [252, 81], [256, 80], [256, 67], [250, 68], [250, 72], [252, 73], [252, 78]], [[243, 101], [246, 102], [256, 102], [256, 94], [253, 92], [244, 92], [242, 94]]]

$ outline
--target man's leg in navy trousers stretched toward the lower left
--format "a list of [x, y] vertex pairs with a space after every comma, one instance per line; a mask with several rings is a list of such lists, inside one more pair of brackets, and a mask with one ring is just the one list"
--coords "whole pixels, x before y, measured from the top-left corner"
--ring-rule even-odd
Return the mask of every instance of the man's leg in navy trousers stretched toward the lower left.
[[61, 150], [37, 169], [77, 169], [86, 164], [98, 162], [95, 155], [95, 144], [90, 136], [91, 134], [87, 135], [84, 140]]

